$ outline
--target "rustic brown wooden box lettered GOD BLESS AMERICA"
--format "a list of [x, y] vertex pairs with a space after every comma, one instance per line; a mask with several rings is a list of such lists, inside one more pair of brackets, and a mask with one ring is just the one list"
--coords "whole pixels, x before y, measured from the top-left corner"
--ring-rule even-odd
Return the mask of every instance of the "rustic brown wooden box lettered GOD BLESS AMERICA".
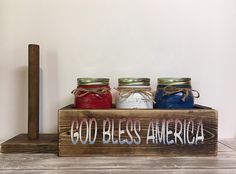
[[217, 111], [59, 110], [59, 156], [215, 156]]

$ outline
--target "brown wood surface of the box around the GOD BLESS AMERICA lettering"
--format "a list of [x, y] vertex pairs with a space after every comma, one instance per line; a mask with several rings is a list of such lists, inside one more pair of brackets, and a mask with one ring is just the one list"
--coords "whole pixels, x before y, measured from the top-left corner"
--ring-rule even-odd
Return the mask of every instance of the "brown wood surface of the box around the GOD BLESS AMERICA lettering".
[[[95, 118], [97, 120], [97, 138], [94, 144], [81, 144], [80, 141], [72, 144], [70, 129], [72, 120]], [[138, 119], [141, 122], [141, 143], [140, 144], [103, 144], [103, 121], [109, 118], [117, 120], [124, 118], [125, 120]], [[197, 130], [197, 123], [202, 121], [204, 127], [204, 143], [184, 144], [178, 142], [168, 145], [167, 143], [152, 143], [149, 140], [147, 144], [146, 137], [150, 121], [158, 120], [192, 120], [194, 122], [194, 130]], [[169, 125], [170, 129], [175, 129], [174, 121]], [[218, 128], [217, 112], [213, 109], [192, 109], [192, 110], [81, 110], [73, 109], [71, 106], [59, 110], [59, 156], [209, 156], [217, 154], [217, 128]], [[84, 124], [85, 125], [85, 124]], [[190, 124], [191, 125], [191, 124]], [[78, 131], [75, 127], [73, 133]], [[115, 139], [118, 139], [117, 124], [114, 130]], [[122, 126], [125, 129], [125, 125]], [[176, 130], [180, 128], [177, 127]], [[85, 126], [82, 134], [85, 139]], [[93, 131], [93, 130], [92, 130]], [[172, 131], [173, 132], [173, 131]], [[174, 133], [174, 132], [173, 132]], [[133, 133], [132, 133], [133, 134]], [[82, 136], [83, 136], [82, 135]], [[181, 134], [182, 135], [182, 134]], [[190, 135], [191, 140], [194, 134]], [[122, 134], [123, 139], [129, 139], [130, 136], [126, 133]], [[136, 137], [137, 138], [137, 137]], [[170, 135], [168, 139], [174, 139]], [[167, 140], [166, 140], [167, 141]]]

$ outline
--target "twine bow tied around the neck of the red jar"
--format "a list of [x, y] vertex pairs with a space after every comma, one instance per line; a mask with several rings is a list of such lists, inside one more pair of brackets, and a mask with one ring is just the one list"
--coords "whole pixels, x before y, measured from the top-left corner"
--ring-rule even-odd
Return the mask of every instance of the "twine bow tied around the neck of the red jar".
[[110, 92], [110, 88], [77, 88], [74, 89], [71, 93], [74, 94], [76, 97], [83, 97], [87, 94], [93, 93], [97, 94], [99, 97], [103, 94], [107, 94]]

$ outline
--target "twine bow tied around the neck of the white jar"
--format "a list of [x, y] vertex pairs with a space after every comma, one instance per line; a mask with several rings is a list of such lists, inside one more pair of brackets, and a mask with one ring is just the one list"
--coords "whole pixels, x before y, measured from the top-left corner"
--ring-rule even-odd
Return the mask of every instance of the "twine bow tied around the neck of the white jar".
[[116, 89], [119, 92], [119, 95], [122, 98], [129, 98], [135, 93], [139, 93], [145, 100], [156, 103], [153, 99], [153, 94], [151, 88], [122, 88], [119, 87]]

